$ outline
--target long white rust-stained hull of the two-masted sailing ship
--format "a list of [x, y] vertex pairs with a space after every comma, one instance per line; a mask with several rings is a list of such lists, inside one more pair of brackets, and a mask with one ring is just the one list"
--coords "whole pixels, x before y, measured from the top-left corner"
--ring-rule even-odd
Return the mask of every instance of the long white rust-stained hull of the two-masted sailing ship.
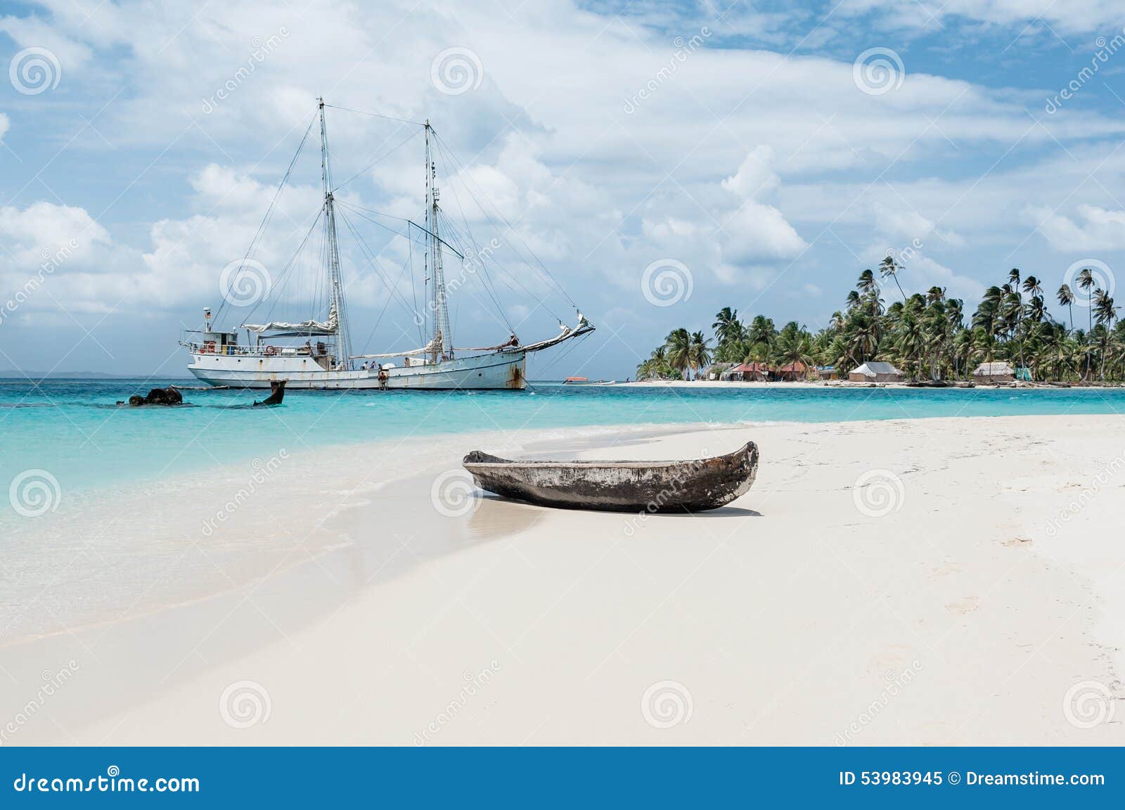
[[259, 358], [192, 352], [188, 370], [204, 382], [232, 388], [268, 389], [276, 380], [285, 380], [288, 390], [523, 390], [528, 385], [526, 354], [522, 351], [387, 369], [385, 380], [379, 379], [376, 369], [325, 371], [307, 356]]

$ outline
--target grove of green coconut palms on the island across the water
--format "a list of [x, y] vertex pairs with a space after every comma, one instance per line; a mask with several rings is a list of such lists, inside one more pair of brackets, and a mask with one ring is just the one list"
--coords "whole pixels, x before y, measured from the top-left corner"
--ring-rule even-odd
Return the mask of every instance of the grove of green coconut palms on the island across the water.
[[[989, 287], [966, 317], [964, 302], [948, 298], [942, 287], [925, 295], [906, 295], [902, 270], [893, 256], [860, 273], [843, 312], [832, 313], [818, 332], [791, 321], [780, 330], [773, 320], [742, 320], [723, 307], [702, 331], [672, 330], [665, 342], [637, 367], [638, 379], [699, 378], [713, 363], [760, 363], [786, 378], [807, 378], [816, 369], [843, 372], [867, 361], [886, 361], [911, 380], [968, 380], [981, 362], [1007, 361], [1025, 379], [1094, 382], [1125, 379], [1125, 326], [1109, 291], [1090, 268], [1081, 269], [1071, 289], [1055, 291], [1052, 310], [1038, 278], [1008, 272], [1004, 284]], [[898, 300], [886, 305], [883, 284]], [[1076, 323], [1076, 309], [1078, 322]], [[1082, 323], [1082, 309], [1086, 323]], [[1058, 316], [1056, 316], [1058, 315]]]

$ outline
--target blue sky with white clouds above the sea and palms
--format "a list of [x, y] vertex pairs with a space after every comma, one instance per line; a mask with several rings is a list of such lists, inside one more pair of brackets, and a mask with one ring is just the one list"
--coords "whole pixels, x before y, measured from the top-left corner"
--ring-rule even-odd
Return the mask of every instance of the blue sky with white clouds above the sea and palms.
[[[531, 253], [601, 327], [533, 377], [624, 377], [727, 305], [821, 326], [888, 251], [908, 291], [970, 310], [1012, 267], [1053, 290], [1098, 262], [1109, 284], [1123, 27], [1120, 3], [1045, 0], [6, 2], [0, 369], [180, 374], [179, 332], [217, 308], [318, 93], [429, 117], [458, 158], [439, 165], [447, 210], [504, 245], [503, 315], [466, 285], [459, 344], [573, 321]], [[420, 215], [418, 138], [368, 168], [410, 127], [336, 110], [328, 127], [336, 181], [359, 174], [348, 201]], [[317, 163], [302, 153], [255, 253], [274, 315], [318, 314], [314, 268], [285, 272]], [[388, 292], [344, 246], [353, 341], [411, 348], [406, 243], [352, 220], [398, 279]]]

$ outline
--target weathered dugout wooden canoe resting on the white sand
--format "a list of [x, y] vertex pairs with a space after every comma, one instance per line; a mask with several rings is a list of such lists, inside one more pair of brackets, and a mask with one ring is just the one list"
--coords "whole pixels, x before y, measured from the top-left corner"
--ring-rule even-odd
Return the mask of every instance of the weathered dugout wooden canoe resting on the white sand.
[[682, 461], [510, 461], [474, 450], [464, 464], [482, 489], [539, 506], [701, 512], [749, 490], [758, 447]]

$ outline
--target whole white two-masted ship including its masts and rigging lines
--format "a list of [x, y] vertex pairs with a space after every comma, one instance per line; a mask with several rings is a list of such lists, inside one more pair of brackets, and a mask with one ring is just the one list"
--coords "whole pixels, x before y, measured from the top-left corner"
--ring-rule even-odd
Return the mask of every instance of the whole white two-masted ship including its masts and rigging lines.
[[[374, 210], [359, 205], [353, 199], [344, 199], [339, 196], [340, 189], [372, 169], [376, 163], [357, 172], [343, 183], [333, 184], [326, 107], [359, 115], [389, 118], [413, 127], [412, 134], [406, 140], [381, 155], [376, 163], [395, 154], [421, 132], [425, 155], [425, 208], [421, 223]], [[277, 213], [282, 191], [290, 184], [294, 166], [297, 164], [313, 126], [317, 122], [320, 123], [321, 140], [322, 202], [312, 225], [304, 232], [304, 238], [297, 246], [294, 256], [285, 264], [279, 278], [274, 280], [264, 267], [254, 259], [255, 252], [262, 245], [271, 219]], [[498, 291], [488, 270], [488, 263], [493, 260], [495, 250], [500, 248], [500, 242], [494, 238], [482, 250], [468, 227], [464, 208], [461, 209], [464, 227], [458, 226], [446, 215], [440, 205], [441, 192], [438, 186], [436, 153], [439, 152], [448, 158], [449, 171], [447, 173], [451, 176], [453, 173], [451, 164], [456, 159], [452, 158], [448, 146], [438, 137], [429, 120], [424, 123], [408, 122], [374, 112], [332, 107], [323, 99], [317, 99], [316, 116], [309, 122], [297, 152], [277, 187], [245, 255], [240, 262], [233, 262], [228, 266], [233, 272], [226, 279], [224, 299], [215, 313], [215, 322], [220, 322], [224, 316], [231, 317], [232, 321], [236, 318], [237, 313], [234, 310], [241, 308], [240, 304], [246, 304], [249, 312], [244, 316], [237, 317], [236, 326], [220, 328], [213, 325], [212, 310], [209, 307], [206, 308], [202, 330], [188, 331], [180, 339], [181, 345], [188, 349], [190, 356], [188, 369], [208, 384], [243, 388], [269, 388], [271, 382], [285, 380], [290, 389], [523, 389], [526, 386], [528, 354], [583, 338], [593, 332], [594, 326], [583, 317], [566, 290], [534, 256], [526, 243], [522, 242], [515, 228], [496, 210], [506, 225], [505, 233], [510, 234], [508, 243], [513, 245], [516, 255], [524, 259], [529, 267], [536, 268], [549, 285], [554, 285], [555, 289], [560, 291], [566, 300], [574, 306], [576, 313], [574, 326], [569, 326], [560, 320], [559, 333], [555, 336], [530, 344], [521, 343], [516, 335], [516, 327], [508, 322], [500, 304]], [[461, 174], [467, 174], [464, 166], [461, 166]], [[471, 188], [468, 186], [466, 188], [474, 201], [477, 202], [478, 208], [488, 216], [484, 205], [471, 191]], [[457, 202], [460, 207], [459, 199]], [[424, 278], [423, 307], [416, 305], [416, 296], [413, 305], [406, 300], [402, 290], [398, 289], [402, 272], [397, 278], [394, 278], [382, 268], [378, 253], [363, 238], [358, 225], [352, 220], [353, 216], [392, 232], [395, 237], [406, 240], [407, 259], [404, 262], [403, 271], [414, 262], [415, 245], [421, 245], [420, 258]], [[397, 298], [399, 304], [404, 305], [406, 310], [412, 314], [412, 325], [417, 328], [421, 338], [418, 342], [422, 345], [398, 351], [388, 349], [381, 352], [353, 353], [345, 284], [341, 272], [338, 220], [343, 222], [349, 234], [354, 238], [359, 254], [388, 288], [387, 300], [371, 330], [371, 335], [374, 336], [376, 327], [382, 321], [392, 299]], [[388, 222], [394, 224], [387, 224]], [[396, 225], [399, 230], [396, 230]], [[312, 296], [313, 300], [304, 303], [304, 306], [307, 307], [305, 312], [315, 314], [304, 321], [274, 320], [273, 312], [278, 303], [277, 298], [281, 297], [291, 274], [298, 273], [302, 267], [303, 251], [317, 226], [321, 228], [322, 236], [318, 266], [322, 268], [326, 289], [322, 288], [321, 292]], [[530, 254], [530, 261], [511, 242], [513, 238], [523, 243], [526, 253]], [[458, 281], [456, 286], [447, 285], [446, 280], [446, 263], [450, 256], [456, 258], [461, 270], [456, 279]], [[250, 281], [256, 285], [256, 289], [262, 295], [253, 296], [249, 303], [243, 302], [237, 290], [240, 286], [246, 284], [248, 273], [253, 274], [254, 272], [259, 273], [260, 278], [251, 278]], [[487, 298], [507, 326], [507, 340], [489, 346], [454, 348], [449, 313], [450, 294], [465, 288], [461, 281], [467, 276], [479, 277]], [[519, 274], [508, 272], [506, 276], [506, 280], [530, 292], [528, 287], [520, 281]], [[273, 296], [271, 292], [277, 295]], [[539, 305], [543, 305], [542, 299], [539, 300]], [[250, 318], [262, 308], [266, 308], [267, 317], [260, 323], [251, 323]], [[245, 343], [240, 343], [240, 333], [243, 331], [245, 332]], [[405, 330], [403, 331], [405, 332]], [[400, 363], [389, 362], [390, 359], [400, 359]]]

